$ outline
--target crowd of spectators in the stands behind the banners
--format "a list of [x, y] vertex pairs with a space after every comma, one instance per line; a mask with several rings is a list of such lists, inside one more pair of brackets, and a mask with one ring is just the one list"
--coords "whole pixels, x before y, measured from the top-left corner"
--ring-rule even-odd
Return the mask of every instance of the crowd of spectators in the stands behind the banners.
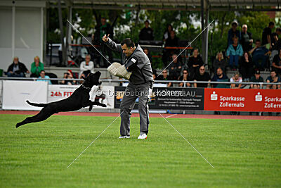
[[[211, 73], [207, 73], [207, 62], [202, 60], [199, 49], [193, 49], [192, 55], [188, 58], [187, 63], [183, 63], [181, 56], [178, 56], [178, 49], [165, 48], [163, 51], [162, 61], [166, 70], [162, 71], [161, 75], [157, 75], [154, 71], [155, 80], [179, 80], [179, 81], [216, 81], [216, 82], [237, 82], [235, 84], [203, 84], [203, 83], [186, 83], [172, 84], [168, 82], [167, 87], [218, 87], [218, 88], [242, 88], [240, 82], [280, 82], [281, 74], [281, 28], [277, 27], [275, 32], [272, 32], [275, 23], [270, 22], [268, 27], [264, 28], [262, 39], [254, 39], [247, 25], [242, 25], [242, 31], [238, 30], [238, 23], [234, 21], [228, 31], [227, 49], [225, 52], [219, 51], [211, 65]], [[100, 25], [96, 26], [96, 32], [92, 36], [93, 44], [100, 44], [104, 35], [113, 35], [113, 30], [105, 18], [101, 18]], [[150, 27], [150, 22], [145, 21], [145, 27], [139, 33], [139, 40], [153, 40], [154, 34]], [[167, 25], [163, 34], [164, 46], [177, 47], [178, 37], [171, 24]], [[254, 46], [253, 46], [254, 45]], [[102, 45], [101, 51], [109, 57], [112, 62], [112, 51]], [[152, 62], [150, 51], [143, 48], [143, 51]], [[81, 78], [86, 77], [89, 73], [94, 72], [96, 62], [93, 61], [93, 56], [86, 55], [85, 60], [80, 63], [80, 72], [72, 73], [72, 70], [67, 70], [63, 78]], [[103, 60], [105, 67], [107, 63]], [[263, 80], [260, 71], [269, 68], [270, 76]], [[228, 70], [235, 70], [233, 77], [227, 76]], [[25, 77], [30, 74], [30, 77], [39, 77], [41, 80], [49, 77], [49, 73], [44, 71], [44, 63], [40, 61], [38, 56], [34, 57], [34, 62], [30, 70], [19, 61], [18, 57], [13, 58], [13, 63], [8, 67], [6, 75], [8, 77]], [[212, 75], [212, 76], [211, 76]], [[46, 80], [45, 80], [46, 81]], [[51, 82], [48, 80], [51, 84]], [[75, 81], [63, 80], [60, 84], [79, 84]], [[251, 84], [251, 88], [260, 88], [260, 84]], [[267, 85], [268, 89], [280, 89], [280, 85]]]

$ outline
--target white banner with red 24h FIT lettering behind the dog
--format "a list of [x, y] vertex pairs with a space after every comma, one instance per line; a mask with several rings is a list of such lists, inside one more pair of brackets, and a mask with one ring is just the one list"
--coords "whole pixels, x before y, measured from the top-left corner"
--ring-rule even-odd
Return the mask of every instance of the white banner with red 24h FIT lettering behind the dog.
[[[66, 99], [78, 87], [80, 85], [48, 85], [48, 103]], [[114, 108], [114, 96], [109, 96], [113, 92], [113, 86], [93, 86], [90, 92], [90, 100], [107, 105], [107, 107], [93, 106], [93, 108]]]

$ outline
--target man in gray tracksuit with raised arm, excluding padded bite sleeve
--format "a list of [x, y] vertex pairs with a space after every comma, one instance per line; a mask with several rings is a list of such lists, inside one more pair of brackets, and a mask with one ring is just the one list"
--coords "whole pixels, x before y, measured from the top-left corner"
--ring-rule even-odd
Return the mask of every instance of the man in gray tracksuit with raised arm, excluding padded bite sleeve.
[[119, 138], [130, 137], [131, 110], [139, 97], [138, 111], [140, 113], [141, 134], [138, 139], [146, 139], [149, 125], [148, 101], [153, 87], [152, 68], [148, 56], [143, 52], [141, 46], [135, 45], [131, 39], [124, 39], [121, 44], [116, 44], [105, 35], [103, 41], [110, 49], [123, 52], [122, 61], [126, 70], [132, 73], [120, 106], [121, 137]]

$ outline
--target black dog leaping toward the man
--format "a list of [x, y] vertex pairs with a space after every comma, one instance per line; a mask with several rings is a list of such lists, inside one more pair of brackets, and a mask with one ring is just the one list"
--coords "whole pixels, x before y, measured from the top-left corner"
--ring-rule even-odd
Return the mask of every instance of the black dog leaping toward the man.
[[30, 101], [27, 101], [28, 104], [32, 106], [44, 107], [41, 111], [32, 117], [26, 118], [20, 123], [15, 125], [16, 128], [20, 127], [21, 125], [25, 125], [27, 123], [35, 123], [39, 121], [46, 120], [48, 117], [53, 115], [54, 113], [59, 112], [67, 112], [67, 111], [77, 111], [83, 107], [90, 106], [89, 111], [92, 110], [93, 105], [103, 106], [106, 107], [105, 104], [101, 104], [97, 101], [90, 101], [90, 90], [93, 85], [99, 85], [101, 82], [98, 80], [100, 79], [100, 72], [90, 73], [86, 79], [84, 78], [83, 84], [79, 88], [77, 88], [73, 94], [68, 97], [67, 99], [63, 99], [61, 101], [52, 102], [49, 104], [34, 104]]

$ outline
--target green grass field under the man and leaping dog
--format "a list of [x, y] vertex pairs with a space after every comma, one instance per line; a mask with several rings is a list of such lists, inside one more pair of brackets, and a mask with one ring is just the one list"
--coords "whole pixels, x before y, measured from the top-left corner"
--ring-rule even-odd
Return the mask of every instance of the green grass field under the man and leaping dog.
[[15, 129], [27, 115], [0, 115], [0, 187], [281, 187], [281, 121], [138, 118], [131, 139], [114, 117], [55, 115]]

